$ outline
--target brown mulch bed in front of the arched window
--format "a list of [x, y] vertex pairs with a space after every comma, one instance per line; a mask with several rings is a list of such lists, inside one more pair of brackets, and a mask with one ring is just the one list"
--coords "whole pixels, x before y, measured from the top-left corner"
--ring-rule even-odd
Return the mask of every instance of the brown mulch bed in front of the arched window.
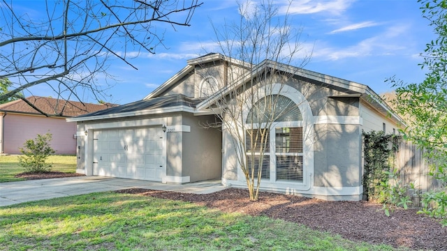
[[228, 188], [208, 195], [131, 188], [117, 192], [162, 199], [190, 201], [225, 212], [265, 215], [339, 234], [352, 241], [405, 246], [416, 250], [447, 250], [447, 227], [416, 210], [396, 208], [387, 217], [380, 204], [366, 201], [323, 201], [293, 195], [261, 192], [249, 201], [248, 191]]

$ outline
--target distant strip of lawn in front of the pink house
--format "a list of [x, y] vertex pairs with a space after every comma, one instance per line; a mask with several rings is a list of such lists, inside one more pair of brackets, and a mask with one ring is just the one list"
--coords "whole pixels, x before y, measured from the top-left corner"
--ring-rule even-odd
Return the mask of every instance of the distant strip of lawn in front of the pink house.
[[[14, 178], [16, 174], [24, 172], [19, 166], [18, 155], [0, 155], [0, 182], [23, 181], [23, 178]], [[52, 155], [48, 161], [52, 163], [52, 171], [76, 172], [76, 156], [74, 155]]]

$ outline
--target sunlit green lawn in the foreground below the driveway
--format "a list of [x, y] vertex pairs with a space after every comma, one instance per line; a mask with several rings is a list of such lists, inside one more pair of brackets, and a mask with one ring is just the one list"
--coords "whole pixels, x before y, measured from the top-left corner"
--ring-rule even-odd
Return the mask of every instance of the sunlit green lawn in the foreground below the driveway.
[[0, 207], [0, 250], [394, 250], [183, 201], [101, 192]]

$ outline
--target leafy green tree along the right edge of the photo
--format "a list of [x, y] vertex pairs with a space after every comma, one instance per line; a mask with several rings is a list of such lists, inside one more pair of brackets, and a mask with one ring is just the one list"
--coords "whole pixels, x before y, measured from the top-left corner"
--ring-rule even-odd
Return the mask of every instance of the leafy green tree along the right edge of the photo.
[[[430, 21], [437, 39], [427, 43], [422, 68], [428, 73], [418, 84], [391, 79], [397, 87], [395, 109], [409, 121], [404, 139], [425, 149], [433, 161], [430, 175], [447, 183], [447, 0], [418, 0], [423, 17]], [[447, 195], [432, 191], [425, 197], [423, 213], [447, 225]]]

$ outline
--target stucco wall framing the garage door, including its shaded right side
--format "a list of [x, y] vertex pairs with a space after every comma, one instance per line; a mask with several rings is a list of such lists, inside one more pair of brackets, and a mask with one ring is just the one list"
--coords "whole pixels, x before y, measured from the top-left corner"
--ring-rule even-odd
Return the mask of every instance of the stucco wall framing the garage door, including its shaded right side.
[[[170, 126], [189, 126], [189, 131], [167, 131], [165, 134], [166, 176], [168, 176], [169, 181], [193, 182], [221, 177], [220, 131], [200, 126], [202, 123], [211, 120], [214, 120], [214, 116], [193, 116], [184, 112], [176, 112], [172, 114], [78, 122], [78, 132], [82, 134], [87, 129], [88, 135], [93, 135], [94, 130], [117, 128], [120, 124], [122, 126], [119, 127], [122, 128], [124, 123], [138, 125], [141, 124], [141, 121], [145, 121], [145, 124], [149, 124], [149, 127], [159, 124], [166, 125], [168, 128]], [[89, 173], [91, 160], [87, 157], [93, 153], [92, 144], [93, 139], [91, 137], [78, 137], [78, 146], [80, 146], [80, 151], [78, 152], [78, 172]], [[85, 149], [86, 145], [87, 149]], [[85, 166], [86, 162], [89, 165], [88, 167]]]

